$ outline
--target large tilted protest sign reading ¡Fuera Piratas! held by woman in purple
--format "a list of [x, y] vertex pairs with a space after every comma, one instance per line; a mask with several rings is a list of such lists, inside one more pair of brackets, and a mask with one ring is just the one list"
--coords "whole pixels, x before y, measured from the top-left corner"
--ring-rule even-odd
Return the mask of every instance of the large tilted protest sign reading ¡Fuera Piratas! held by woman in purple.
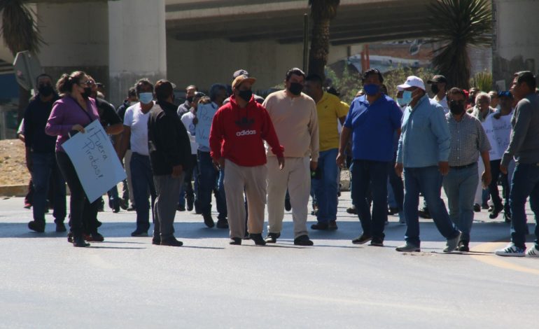
[[73, 162], [88, 200], [94, 202], [126, 176], [99, 120], [84, 129], [84, 134], [79, 132], [65, 141], [62, 147]]

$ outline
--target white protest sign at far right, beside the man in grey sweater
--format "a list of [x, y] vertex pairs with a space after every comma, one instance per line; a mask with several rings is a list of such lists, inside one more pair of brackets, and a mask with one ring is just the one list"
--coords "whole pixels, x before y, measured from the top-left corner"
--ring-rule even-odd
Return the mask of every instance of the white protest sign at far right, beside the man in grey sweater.
[[491, 114], [486, 117], [483, 123], [483, 129], [491, 144], [490, 159], [499, 160], [507, 150], [511, 139], [511, 116], [500, 116], [494, 118]]

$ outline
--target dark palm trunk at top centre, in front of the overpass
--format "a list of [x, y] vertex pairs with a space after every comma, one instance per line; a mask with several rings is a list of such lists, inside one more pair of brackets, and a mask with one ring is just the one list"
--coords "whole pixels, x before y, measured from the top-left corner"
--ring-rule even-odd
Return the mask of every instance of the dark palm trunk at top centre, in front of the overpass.
[[330, 48], [330, 21], [337, 15], [339, 0], [309, 0], [313, 20], [311, 48], [309, 49], [309, 73], [324, 78]]

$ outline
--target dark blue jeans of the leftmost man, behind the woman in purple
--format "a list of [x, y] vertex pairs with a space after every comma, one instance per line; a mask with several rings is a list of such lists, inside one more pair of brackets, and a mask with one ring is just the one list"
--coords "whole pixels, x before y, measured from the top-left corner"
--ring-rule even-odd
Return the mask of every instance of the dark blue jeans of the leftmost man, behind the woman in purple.
[[[34, 185], [34, 221], [45, 223], [45, 209], [49, 188], [52, 188], [54, 199], [55, 223], [64, 223], [66, 218], [66, 182], [59, 171], [55, 153], [31, 153], [33, 162], [31, 181]], [[49, 182], [52, 181], [52, 186]]]

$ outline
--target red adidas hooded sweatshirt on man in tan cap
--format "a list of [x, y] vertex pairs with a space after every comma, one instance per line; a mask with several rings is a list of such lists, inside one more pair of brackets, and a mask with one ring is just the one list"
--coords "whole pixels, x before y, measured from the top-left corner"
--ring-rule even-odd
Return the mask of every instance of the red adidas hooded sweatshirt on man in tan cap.
[[210, 154], [214, 160], [225, 158], [243, 167], [265, 165], [264, 141], [277, 157], [283, 156], [284, 148], [279, 144], [272, 119], [253, 97], [241, 109], [232, 96], [230, 102], [215, 113], [209, 133]]

